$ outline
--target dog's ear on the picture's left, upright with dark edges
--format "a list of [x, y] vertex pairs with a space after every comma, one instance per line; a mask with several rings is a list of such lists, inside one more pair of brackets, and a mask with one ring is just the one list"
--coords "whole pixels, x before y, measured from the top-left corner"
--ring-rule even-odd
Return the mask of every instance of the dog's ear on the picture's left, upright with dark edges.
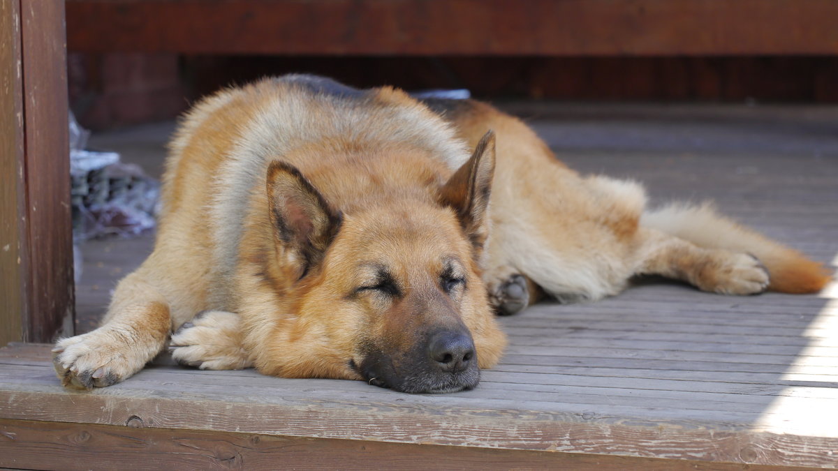
[[323, 259], [341, 215], [296, 167], [279, 160], [267, 168], [267, 198], [274, 240], [302, 278]]

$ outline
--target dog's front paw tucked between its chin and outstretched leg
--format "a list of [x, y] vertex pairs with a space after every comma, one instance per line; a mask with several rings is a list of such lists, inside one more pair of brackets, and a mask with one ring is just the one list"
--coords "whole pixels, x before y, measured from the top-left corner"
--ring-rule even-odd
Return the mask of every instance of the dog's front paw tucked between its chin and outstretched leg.
[[238, 314], [204, 311], [184, 323], [169, 343], [180, 365], [201, 370], [242, 370], [252, 366], [242, 345]]

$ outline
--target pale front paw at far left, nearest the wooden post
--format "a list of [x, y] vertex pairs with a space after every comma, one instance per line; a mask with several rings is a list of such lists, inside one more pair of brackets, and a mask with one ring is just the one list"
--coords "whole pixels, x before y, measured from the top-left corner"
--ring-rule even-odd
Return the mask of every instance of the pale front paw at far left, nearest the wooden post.
[[53, 365], [61, 384], [79, 389], [115, 385], [146, 363], [139, 347], [119, 332], [100, 328], [87, 334], [60, 339], [53, 352]]

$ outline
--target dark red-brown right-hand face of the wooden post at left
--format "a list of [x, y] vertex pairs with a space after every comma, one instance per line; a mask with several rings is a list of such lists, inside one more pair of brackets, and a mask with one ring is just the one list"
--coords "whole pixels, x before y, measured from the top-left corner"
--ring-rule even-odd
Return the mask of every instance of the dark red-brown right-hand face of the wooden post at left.
[[73, 329], [73, 247], [64, 2], [21, 9], [27, 322], [23, 339], [49, 342]]

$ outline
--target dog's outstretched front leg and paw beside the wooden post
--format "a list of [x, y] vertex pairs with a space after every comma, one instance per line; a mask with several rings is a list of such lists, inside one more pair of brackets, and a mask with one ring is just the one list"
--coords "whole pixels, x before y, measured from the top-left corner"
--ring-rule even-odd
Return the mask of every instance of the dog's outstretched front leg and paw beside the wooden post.
[[171, 324], [166, 299], [134, 272], [116, 287], [99, 329], [55, 344], [55, 370], [64, 386], [111, 386], [163, 349]]

